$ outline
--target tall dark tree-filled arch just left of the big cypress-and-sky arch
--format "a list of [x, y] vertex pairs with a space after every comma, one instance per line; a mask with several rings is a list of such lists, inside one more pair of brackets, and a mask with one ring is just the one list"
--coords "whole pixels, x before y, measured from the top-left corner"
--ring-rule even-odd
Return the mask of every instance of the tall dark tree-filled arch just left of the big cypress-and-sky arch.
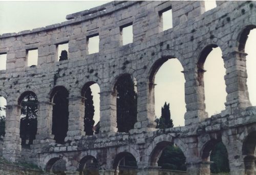
[[130, 74], [118, 78], [114, 86], [116, 97], [117, 132], [128, 133], [137, 122], [136, 80]]

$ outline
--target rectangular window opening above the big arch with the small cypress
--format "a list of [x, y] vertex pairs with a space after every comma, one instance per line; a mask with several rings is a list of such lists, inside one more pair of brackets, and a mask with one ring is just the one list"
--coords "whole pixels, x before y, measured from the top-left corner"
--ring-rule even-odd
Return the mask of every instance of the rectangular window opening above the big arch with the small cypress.
[[165, 8], [159, 12], [160, 31], [165, 31], [173, 28], [173, 11], [172, 7]]

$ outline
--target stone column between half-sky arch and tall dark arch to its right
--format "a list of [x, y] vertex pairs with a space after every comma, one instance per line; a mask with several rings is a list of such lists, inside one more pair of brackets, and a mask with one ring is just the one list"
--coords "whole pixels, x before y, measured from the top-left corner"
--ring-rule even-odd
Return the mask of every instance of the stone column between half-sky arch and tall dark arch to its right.
[[100, 93], [100, 132], [117, 132], [116, 92]]

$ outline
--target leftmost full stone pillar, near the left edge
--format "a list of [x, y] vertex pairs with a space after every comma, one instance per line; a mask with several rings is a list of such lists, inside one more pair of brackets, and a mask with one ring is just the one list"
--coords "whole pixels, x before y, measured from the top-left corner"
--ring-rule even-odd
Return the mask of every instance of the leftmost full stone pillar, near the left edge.
[[22, 150], [22, 139], [19, 137], [20, 108], [16, 104], [6, 106], [3, 157], [10, 162], [16, 162]]

